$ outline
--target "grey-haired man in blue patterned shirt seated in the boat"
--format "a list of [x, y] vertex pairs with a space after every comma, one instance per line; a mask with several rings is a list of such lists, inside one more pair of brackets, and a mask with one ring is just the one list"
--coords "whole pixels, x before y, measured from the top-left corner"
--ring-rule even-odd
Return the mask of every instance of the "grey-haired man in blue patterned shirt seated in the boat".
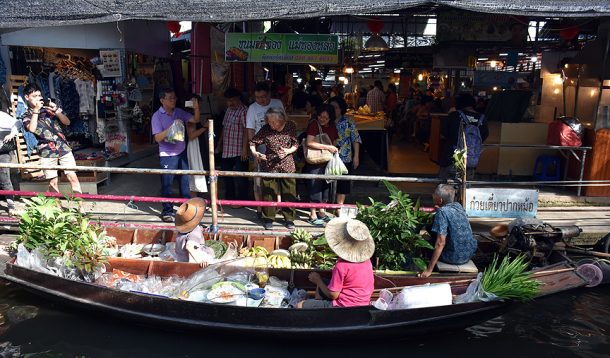
[[438, 207], [432, 224], [436, 243], [428, 268], [422, 271], [419, 277], [430, 276], [439, 260], [452, 265], [462, 265], [470, 261], [477, 251], [477, 241], [472, 234], [466, 210], [460, 203], [454, 202], [453, 186], [440, 184], [432, 198], [434, 205]]

